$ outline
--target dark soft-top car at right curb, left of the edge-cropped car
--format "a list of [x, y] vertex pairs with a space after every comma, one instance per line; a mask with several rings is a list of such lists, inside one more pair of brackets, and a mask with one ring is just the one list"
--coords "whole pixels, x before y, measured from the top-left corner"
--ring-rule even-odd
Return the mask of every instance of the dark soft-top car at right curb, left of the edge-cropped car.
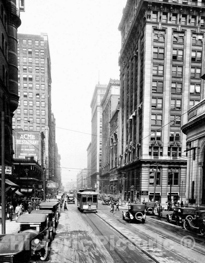
[[184, 220], [192, 220], [194, 218], [194, 213], [196, 209], [186, 208], [186, 207], [177, 207], [174, 208], [173, 213], [167, 214], [167, 222], [176, 221], [177, 226], [183, 224]]

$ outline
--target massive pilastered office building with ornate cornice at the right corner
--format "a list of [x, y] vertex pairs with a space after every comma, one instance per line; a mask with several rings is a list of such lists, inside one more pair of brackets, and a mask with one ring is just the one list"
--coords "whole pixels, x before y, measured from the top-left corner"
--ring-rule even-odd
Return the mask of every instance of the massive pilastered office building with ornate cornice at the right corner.
[[162, 203], [170, 191], [185, 200], [181, 126], [189, 107], [204, 98], [204, 19], [204, 1], [127, 1], [119, 25], [125, 198], [152, 199], [155, 190]]

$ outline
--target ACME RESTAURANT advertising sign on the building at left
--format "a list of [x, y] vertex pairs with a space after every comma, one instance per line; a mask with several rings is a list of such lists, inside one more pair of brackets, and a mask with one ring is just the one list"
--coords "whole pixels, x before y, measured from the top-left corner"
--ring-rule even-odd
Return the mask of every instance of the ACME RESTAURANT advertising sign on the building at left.
[[14, 134], [15, 158], [25, 159], [33, 156], [34, 160], [40, 159], [40, 133], [18, 131]]

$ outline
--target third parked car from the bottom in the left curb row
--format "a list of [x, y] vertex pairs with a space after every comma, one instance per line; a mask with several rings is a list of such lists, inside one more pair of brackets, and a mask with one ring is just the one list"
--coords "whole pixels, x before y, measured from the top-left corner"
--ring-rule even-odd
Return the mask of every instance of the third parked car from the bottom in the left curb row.
[[33, 210], [31, 214], [44, 214], [47, 215], [46, 232], [50, 242], [53, 240], [55, 232], [55, 221], [53, 221], [53, 211], [51, 210]]

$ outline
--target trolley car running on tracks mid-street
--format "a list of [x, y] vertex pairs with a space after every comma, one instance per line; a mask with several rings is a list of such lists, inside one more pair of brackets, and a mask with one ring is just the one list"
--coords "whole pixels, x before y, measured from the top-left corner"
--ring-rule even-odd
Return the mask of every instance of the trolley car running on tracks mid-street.
[[94, 189], [80, 189], [77, 193], [77, 205], [81, 212], [96, 212], [98, 193]]

